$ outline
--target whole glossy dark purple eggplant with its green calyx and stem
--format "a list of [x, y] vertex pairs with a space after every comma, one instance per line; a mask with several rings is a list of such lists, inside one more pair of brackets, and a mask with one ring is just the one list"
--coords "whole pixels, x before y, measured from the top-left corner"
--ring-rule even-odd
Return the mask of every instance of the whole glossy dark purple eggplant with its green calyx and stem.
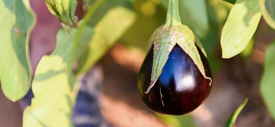
[[212, 73], [199, 39], [181, 24], [178, 0], [169, 0], [166, 22], [149, 40], [138, 89], [145, 105], [161, 114], [195, 110], [210, 94]]

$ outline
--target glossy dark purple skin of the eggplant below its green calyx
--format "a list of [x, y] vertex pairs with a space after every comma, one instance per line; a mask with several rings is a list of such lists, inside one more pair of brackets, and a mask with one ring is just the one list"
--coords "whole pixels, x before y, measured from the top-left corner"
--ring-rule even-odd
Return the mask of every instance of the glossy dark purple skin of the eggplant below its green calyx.
[[[148, 94], [144, 93], [151, 82], [153, 48], [144, 59], [138, 77], [138, 90], [145, 105], [152, 111], [170, 115], [183, 115], [198, 108], [210, 94], [212, 85], [209, 85], [210, 80], [204, 78], [191, 57], [178, 45], [170, 52], [155, 85]], [[209, 62], [198, 46], [197, 49], [205, 74], [212, 79]]]

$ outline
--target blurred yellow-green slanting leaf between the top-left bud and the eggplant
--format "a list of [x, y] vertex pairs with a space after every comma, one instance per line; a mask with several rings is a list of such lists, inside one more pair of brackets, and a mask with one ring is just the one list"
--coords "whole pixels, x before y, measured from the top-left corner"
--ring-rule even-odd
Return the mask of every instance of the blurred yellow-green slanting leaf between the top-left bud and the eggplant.
[[[110, 9], [104, 9], [104, 7], [109, 8], [110, 5], [113, 5]], [[94, 35], [87, 49], [83, 49], [87, 53], [78, 59], [78, 74], [87, 72], [133, 24], [135, 13], [129, 9], [130, 5], [129, 1], [107, 0], [91, 17], [89, 24], [94, 26]], [[97, 20], [98, 22], [95, 22]]]

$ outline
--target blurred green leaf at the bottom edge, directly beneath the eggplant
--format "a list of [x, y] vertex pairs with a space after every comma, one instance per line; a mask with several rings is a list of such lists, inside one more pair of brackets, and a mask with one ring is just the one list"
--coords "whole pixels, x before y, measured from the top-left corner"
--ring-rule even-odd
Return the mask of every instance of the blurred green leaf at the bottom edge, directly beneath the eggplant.
[[156, 114], [159, 119], [169, 125], [169, 127], [196, 127], [193, 118], [186, 114], [183, 116]]

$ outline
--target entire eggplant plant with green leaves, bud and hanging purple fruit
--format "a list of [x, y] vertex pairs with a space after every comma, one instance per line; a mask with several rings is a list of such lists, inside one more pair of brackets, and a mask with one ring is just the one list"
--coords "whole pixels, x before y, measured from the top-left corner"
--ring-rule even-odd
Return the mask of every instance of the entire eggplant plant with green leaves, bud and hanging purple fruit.
[[[83, 16], [77, 17], [80, 3]], [[23, 127], [75, 126], [80, 77], [117, 42], [147, 53], [137, 77], [144, 106], [169, 126], [186, 126], [181, 121], [187, 113], [211, 95], [221, 58], [251, 57], [259, 24], [266, 23], [271, 33], [275, 29], [274, 0], [45, 0], [45, 6], [62, 28], [56, 48], [40, 59], [32, 74], [30, 37], [37, 12], [29, 0], [0, 0], [1, 90], [13, 102], [30, 89], [34, 95], [24, 110]], [[274, 120], [272, 36], [259, 92]], [[233, 126], [247, 101], [228, 114], [225, 127]]]

